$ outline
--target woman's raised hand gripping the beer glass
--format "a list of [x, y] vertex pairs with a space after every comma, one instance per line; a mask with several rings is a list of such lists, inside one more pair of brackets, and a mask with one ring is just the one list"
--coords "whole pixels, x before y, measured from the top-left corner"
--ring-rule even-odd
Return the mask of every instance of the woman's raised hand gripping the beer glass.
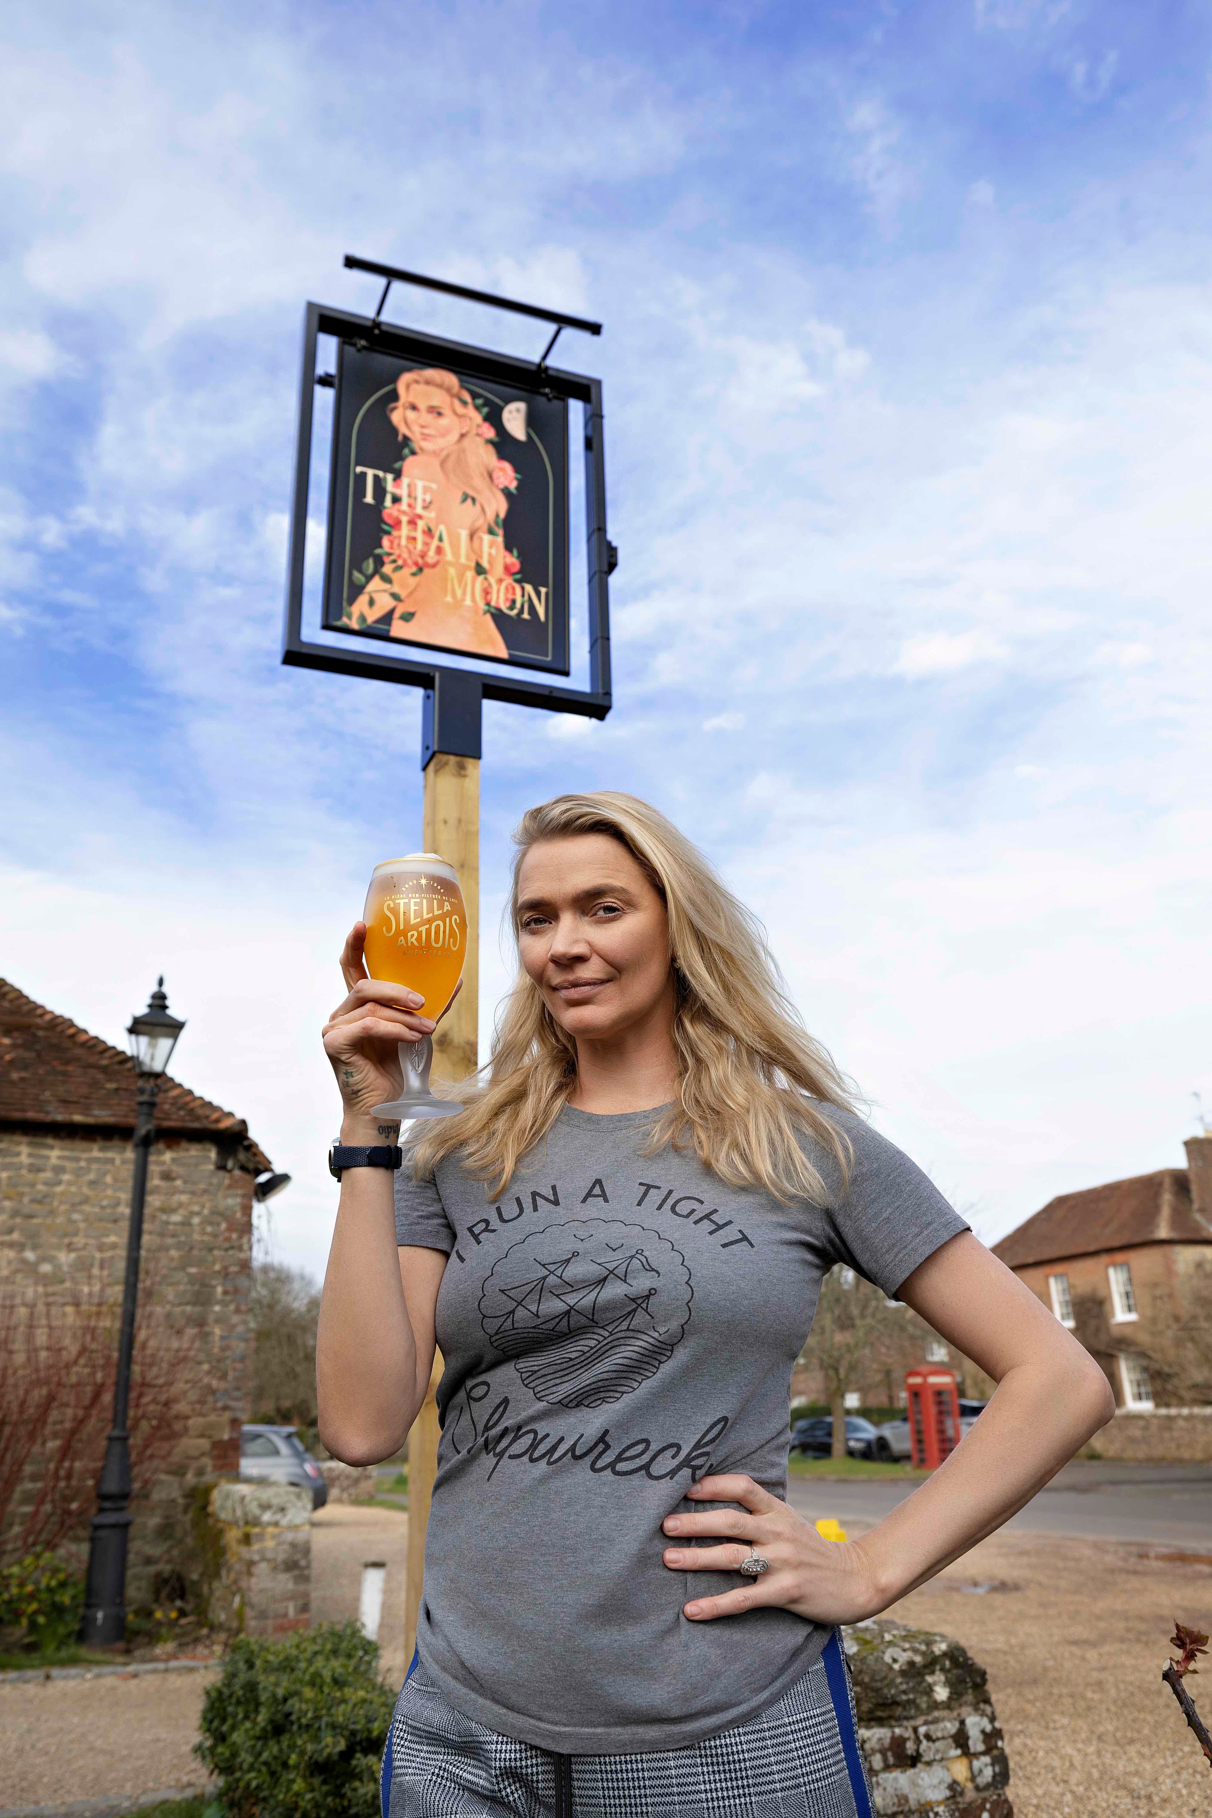
[[420, 1042], [436, 1025], [420, 1014], [425, 1002], [420, 993], [367, 976], [363, 947], [365, 922], [354, 922], [342, 949], [349, 994], [323, 1025], [323, 1051], [336, 1074], [345, 1118], [374, 1125], [373, 1107], [403, 1091], [398, 1044]]

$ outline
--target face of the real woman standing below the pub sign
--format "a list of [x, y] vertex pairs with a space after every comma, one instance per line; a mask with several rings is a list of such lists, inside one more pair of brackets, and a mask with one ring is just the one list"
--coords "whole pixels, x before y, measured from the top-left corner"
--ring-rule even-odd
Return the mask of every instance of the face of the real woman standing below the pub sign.
[[518, 947], [569, 1034], [611, 1040], [672, 1009], [669, 916], [620, 840], [541, 840], [518, 874]]

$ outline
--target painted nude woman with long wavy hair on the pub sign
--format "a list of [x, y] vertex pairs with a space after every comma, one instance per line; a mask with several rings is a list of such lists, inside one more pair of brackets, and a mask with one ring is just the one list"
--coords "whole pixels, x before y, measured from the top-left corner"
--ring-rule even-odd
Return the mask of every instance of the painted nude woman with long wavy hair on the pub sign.
[[492, 447], [492, 425], [454, 373], [402, 373], [387, 416], [412, 453], [383, 511], [382, 565], [349, 607], [392, 638], [507, 658], [492, 609], [516, 594], [518, 562], [505, 549], [503, 487], [516, 487]]

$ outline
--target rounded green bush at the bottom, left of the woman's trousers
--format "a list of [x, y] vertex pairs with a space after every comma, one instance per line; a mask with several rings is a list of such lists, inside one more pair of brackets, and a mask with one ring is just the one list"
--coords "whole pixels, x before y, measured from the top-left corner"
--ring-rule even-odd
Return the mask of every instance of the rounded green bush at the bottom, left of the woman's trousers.
[[202, 1705], [194, 1753], [224, 1818], [378, 1818], [392, 1694], [356, 1622], [283, 1642], [240, 1636]]

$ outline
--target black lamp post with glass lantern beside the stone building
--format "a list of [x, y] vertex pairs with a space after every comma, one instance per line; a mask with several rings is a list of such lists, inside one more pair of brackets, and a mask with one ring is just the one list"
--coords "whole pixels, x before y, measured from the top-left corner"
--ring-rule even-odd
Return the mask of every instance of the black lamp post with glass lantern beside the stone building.
[[156, 980], [147, 1009], [131, 1018], [127, 1036], [134, 1054], [134, 1178], [131, 1182], [131, 1227], [125, 1245], [125, 1285], [122, 1289], [122, 1334], [118, 1338], [118, 1376], [114, 1382], [114, 1423], [105, 1442], [105, 1463], [96, 1485], [96, 1514], [89, 1534], [89, 1576], [84, 1593], [80, 1640], [93, 1647], [113, 1647], [125, 1640], [125, 1551], [131, 1531], [131, 1353], [134, 1349], [134, 1309], [138, 1305], [138, 1254], [144, 1242], [144, 1198], [147, 1194], [147, 1156], [154, 1136], [156, 1093], [169, 1065], [176, 1038], [185, 1027], [169, 1016], [164, 978]]

